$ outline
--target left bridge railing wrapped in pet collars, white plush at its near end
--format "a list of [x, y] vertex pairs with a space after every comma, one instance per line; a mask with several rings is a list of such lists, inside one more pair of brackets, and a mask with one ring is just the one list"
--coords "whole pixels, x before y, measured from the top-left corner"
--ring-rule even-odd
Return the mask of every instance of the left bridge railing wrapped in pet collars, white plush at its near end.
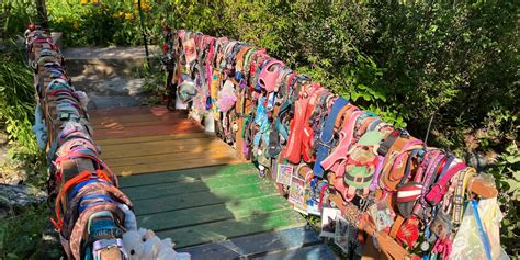
[[137, 229], [131, 200], [100, 159], [87, 94], [72, 87], [49, 35], [32, 27], [25, 36], [37, 103], [33, 131], [47, 156], [47, 192], [55, 212], [50, 221], [67, 258], [189, 259], [177, 255], [170, 239], [161, 241], [151, 230]]

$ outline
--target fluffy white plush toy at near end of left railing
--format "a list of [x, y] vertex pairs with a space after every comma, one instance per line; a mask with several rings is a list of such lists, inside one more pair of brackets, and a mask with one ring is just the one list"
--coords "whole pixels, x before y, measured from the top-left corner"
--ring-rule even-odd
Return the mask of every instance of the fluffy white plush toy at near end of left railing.
[[173, 250], [170, 238], [160, 240], [152, 230], [139, 228], [123, 235], [123, 245], [129, 260], [190, 260], [190, 253]]

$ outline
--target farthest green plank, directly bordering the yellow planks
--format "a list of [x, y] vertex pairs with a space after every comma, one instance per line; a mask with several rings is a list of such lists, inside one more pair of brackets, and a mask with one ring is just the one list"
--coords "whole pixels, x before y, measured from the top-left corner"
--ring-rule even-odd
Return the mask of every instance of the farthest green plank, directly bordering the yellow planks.
[[166, 182], [178, 182], [195, 179], [207, 179], [215, 176], [234, 176], [237, 172], [256, 173], [258, 170], [252, 163], [202, 167], [167, 172], [155, 172], [138, 176], [120, 177], [120, 188], [149, 185]]

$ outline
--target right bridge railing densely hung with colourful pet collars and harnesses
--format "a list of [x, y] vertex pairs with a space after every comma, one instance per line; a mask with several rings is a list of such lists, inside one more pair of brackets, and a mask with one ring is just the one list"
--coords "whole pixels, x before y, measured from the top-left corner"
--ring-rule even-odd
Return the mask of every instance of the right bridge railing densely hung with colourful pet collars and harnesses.
[[[456, 236], [465, 190], [497, 195], [454, 155], [358, 109], [265, 49], [184, 30], [165, 35], [167, 101], [186, 103], [191, 117], [273, 179], [295, 210], [318, 216], [339, 210], [344, 221], [336, 227], [364, 230], [388, 258], [414, 257], [425, 229], [432, 234], [425, 251], [448, 255], [441, 248]], [[453, 229], [437, 224], [443, 221]], [[383, 256], [372, 238], [339, 238], [343, 249], [366, 242], [364, 256]]]

